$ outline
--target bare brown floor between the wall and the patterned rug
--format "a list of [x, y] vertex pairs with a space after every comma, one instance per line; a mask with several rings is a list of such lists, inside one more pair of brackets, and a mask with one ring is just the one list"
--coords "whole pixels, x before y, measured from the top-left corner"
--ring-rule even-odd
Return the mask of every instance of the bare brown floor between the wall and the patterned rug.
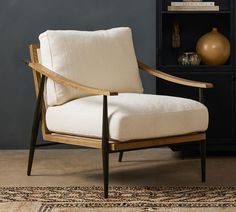
[[[0, 150], [0, 186], [102, 185], [101, 150], [36, 150], [32, 176], [26, 176], [28, 151]], [[110, 155], [110, 185], [114, 186], [236, 186], [236, 155], [209, 156], [207, 183], [200, 180], [197, 157], [181, 157], [168, 148]]]

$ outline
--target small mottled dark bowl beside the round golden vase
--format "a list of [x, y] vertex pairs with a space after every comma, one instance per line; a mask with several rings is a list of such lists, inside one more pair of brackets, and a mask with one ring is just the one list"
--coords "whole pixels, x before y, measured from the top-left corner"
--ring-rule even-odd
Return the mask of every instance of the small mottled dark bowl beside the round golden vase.
[[178, 63], [182, 66], [198, 66], [201, 63], [201, 58], [196, 52], [185, 52], [179, 56]]

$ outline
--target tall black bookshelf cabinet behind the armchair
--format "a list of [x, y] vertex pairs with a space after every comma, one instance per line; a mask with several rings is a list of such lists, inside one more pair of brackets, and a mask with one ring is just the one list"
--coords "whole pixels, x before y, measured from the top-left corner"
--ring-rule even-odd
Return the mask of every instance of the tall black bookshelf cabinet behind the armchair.
[[[178, 1], [178, 0], [172, 0]], [[181, 0], [179, 0], [181, 1]], [[209, 0], [214, 1], [214, 0]], [[236, 151], [236, 64], [235, 64], [235, 3], [234, 0], [215, 0], [220, 11], [167, 11], [171, 0], [157, 1], [157, 68], [191, 80], [214, 83], [205, 90], [205, 104], [210, 113], [208, 151]], [[180, 25], [181, 47], [172, 48], [174, 20]], [[183, 52], [196, 51], [197, 40], [213, 27], [231, 43], [231, 56], [219, 66], [181, 66], [177, 58]], [[157, 94], [198, 99], [197, 90], [157, 80]], [[174, 150], [192, 150], [190, 146], [172, 146]]]

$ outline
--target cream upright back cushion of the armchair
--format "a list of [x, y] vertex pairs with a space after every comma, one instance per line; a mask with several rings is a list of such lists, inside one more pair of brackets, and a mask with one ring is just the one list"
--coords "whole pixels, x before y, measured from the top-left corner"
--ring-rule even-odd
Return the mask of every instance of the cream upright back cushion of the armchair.
[[[39, 36], [41, 63], [83, 85], [121, 93], [142, 93], [132, 32], [48, 30]], [[47, 80], [47, 104], [60, 105], [89, 94]]]

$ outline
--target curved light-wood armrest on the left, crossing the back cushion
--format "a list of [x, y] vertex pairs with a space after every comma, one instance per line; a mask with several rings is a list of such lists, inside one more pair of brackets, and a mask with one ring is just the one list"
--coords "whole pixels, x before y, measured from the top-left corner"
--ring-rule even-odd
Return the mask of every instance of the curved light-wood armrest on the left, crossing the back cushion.
[[71, 87], [77, 90], [81, 90], [83, 92], [87, 92], [90, 94], [95, 94], [95, 95], [104, 95], [104, 96], [116, 96], [118, 95], [118, 92], [113, 92], [113, 91], [108, 91], [108, 90], [101, 90], [101, 89], [97, 89], [97, 88], [92, 88], [92, 87], [88, 87], [85, 85], [81, 85], [77, 82], [74, 82], [70, 79], [67, 79], [53, 71], [51, 71], [50, 69], [46, 68], [45, 66], [39, 64], [39, 63], [26, 63], [30, 68], [32, 68], [33, 70], [39, 72], [42, 75], [45, 75], [46, 77], [54, 80], [55, 82], [64, 85], [66, 87]]

